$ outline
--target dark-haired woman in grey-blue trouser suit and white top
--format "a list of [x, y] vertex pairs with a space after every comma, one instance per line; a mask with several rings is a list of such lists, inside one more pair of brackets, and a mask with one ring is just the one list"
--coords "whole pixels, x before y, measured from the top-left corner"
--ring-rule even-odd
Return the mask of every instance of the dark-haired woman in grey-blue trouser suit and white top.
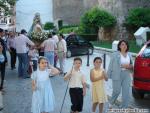
[[129, 45], [125, 40], [118, 43], [118, 52], [113, 53], [107, 75], [112, 79], [112, 97], [110, 107], [117, 100], [122, 89], [121, 108], [127, 108], [130, 100], [129, 89], [131, 84], [130, 70], [133, 69], [132, 57], [128, 53]]

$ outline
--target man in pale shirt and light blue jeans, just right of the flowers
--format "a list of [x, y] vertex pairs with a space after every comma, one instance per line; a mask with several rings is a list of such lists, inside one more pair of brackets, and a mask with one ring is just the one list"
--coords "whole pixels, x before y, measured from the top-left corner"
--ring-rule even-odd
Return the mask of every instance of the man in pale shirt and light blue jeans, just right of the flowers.
[[54, 51], [56, 47], [56, 42], [52, 39], [51, 34], [49, 34], [48, 39], [41, 44], [41, 48], [44, 48], [44, 56], [52, 66], [54, 66]]

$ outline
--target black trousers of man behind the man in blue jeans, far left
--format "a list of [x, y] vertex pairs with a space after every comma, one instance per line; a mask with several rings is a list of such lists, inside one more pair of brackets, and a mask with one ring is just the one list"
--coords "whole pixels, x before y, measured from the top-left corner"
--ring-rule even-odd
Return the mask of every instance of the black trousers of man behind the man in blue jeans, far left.
[[10, 52], [10, 57], [11, 57], [11, 68], [15, 68], [15, 64], [16, 64], [16, 49], [14, 48], [10, 48], [11, 52]]

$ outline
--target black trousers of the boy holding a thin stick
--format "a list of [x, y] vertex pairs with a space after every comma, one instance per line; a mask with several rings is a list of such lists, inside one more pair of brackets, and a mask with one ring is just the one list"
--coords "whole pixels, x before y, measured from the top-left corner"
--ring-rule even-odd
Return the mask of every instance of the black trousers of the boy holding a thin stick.
[[71, 98], [71, 110], [81, 112], [83, 108], [83, 89], [82, 88], [70, 88]]

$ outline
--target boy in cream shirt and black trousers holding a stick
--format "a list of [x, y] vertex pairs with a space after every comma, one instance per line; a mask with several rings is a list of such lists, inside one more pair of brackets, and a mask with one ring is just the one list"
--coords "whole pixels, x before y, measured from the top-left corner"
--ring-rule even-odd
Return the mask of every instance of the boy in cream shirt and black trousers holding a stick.
[[69, 80], [69, 93], [71, 98], [71, 113], [79, 113], [83, 107], [83, 96], [86, 94], [85, 77], [80, 71], [81, 58], [74, 58], [74, 67], [68, 72], [64, 80]]

